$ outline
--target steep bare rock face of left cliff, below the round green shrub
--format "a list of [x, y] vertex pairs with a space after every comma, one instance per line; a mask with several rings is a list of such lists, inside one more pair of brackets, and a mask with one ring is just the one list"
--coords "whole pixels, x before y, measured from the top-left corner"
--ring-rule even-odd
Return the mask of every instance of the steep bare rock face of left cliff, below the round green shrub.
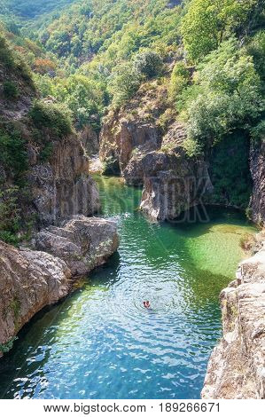
[[89, 216], [100, 207], [97, 186], [89, 175], [89, 161], [76, 137], [55, 142], [48, 163], [33, 161], [28, 180], [44, 227], [59, 224], [68, 216]]

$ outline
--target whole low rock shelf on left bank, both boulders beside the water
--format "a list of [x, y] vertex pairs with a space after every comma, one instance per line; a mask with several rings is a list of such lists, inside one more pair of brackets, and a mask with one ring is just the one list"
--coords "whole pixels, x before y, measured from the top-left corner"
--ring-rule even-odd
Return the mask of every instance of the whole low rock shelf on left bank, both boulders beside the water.
[[103, 264], [118, 244], [112, 221], [85, 216], [44, 229], [33, 242], [39, 250], [0, 241], [0, 356], [37, 311], [66, 296], [74, 280]]

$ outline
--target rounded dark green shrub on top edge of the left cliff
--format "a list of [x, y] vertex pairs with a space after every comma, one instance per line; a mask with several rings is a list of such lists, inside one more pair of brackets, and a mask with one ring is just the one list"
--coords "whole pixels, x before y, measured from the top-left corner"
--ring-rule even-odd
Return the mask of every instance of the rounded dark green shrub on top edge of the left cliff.
[[35, 100], [29, 116], [36, 128], [48, 128], [58, 138], [73, 132], [71, 113], [61, 104]]

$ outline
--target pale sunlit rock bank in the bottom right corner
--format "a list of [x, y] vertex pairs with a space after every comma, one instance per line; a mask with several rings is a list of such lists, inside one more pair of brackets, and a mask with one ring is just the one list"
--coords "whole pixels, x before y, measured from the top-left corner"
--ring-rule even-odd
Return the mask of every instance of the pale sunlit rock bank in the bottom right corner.
[[222, 341], [208, 363], [202, 398], [265, 398], [265, 248], [242, 262], [221, 294]]

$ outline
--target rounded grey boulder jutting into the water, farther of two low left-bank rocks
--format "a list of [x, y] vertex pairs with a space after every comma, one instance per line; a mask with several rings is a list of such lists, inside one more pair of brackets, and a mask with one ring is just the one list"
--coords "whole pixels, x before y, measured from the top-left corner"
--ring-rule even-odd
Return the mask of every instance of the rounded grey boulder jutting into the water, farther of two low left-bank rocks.
[[104, 264], [118, 245], [116, 224], [97, 217], [74, 216], [62, 227], [48, 227], [35, 238], [35, 248], [63, 259], [73, 276]]

